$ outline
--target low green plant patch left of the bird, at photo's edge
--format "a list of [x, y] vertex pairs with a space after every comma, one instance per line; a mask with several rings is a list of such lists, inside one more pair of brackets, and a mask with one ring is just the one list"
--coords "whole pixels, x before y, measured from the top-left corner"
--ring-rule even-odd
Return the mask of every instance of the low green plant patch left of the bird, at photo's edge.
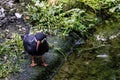
[[0, 78], [20, 70], [22, 41], [18, 34], [0, 44]]

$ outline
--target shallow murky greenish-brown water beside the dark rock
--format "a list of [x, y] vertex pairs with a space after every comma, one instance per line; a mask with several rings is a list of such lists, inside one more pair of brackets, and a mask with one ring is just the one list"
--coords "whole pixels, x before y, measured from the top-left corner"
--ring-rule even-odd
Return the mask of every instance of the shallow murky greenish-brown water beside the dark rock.
[[120, 80], [120, 23], [105, 21], [53, 80]]

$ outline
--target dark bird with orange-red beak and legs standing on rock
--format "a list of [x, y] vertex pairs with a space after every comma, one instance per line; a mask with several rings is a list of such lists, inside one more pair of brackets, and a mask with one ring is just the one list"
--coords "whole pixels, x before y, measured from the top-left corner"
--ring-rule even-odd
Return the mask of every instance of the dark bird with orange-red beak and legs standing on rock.
[[25, 35], [21, 36], [23, 40], [23, 46], [25, 51], [32, 56], [31, 66], [36, 66], [37, 64], [34, 61], [34, 56], [40, 56], [42, 59], [42, 65], [47, 66], [44, 62], [44, 57], [42, 56], [45, 52], [48, 52], [49, 45], [46, 40], [46, 35], [42, 32], [30, 34], [30, 27], [26, 29]]

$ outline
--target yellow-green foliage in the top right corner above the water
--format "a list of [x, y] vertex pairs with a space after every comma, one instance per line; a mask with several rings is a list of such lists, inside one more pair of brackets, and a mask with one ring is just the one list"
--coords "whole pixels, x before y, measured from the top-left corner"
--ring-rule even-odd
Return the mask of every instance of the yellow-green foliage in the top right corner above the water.
[[103, 12], [101, 15], [120, 18], [119, 0], [79, 0], [91, 7], [96, 13]]

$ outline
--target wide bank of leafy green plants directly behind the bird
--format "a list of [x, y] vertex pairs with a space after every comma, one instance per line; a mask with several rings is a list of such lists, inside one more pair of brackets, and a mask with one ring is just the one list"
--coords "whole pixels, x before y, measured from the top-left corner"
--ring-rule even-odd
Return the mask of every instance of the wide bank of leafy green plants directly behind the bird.
[[89, 13], [83, 9], [73, 8], [64, 11], [62, 3], [48, 6], [43, 1], [36, 4], [34, 0], [27, 9], [31, 24], [51, 34], [60, 32], [62, 35], [68, 35], [71, 31], [78, 31], [82, 36], [86, 36], [89, 34], [88, 29], [97, 21], [95, 14], [90, 13], [91, 17], [89, 17]]

